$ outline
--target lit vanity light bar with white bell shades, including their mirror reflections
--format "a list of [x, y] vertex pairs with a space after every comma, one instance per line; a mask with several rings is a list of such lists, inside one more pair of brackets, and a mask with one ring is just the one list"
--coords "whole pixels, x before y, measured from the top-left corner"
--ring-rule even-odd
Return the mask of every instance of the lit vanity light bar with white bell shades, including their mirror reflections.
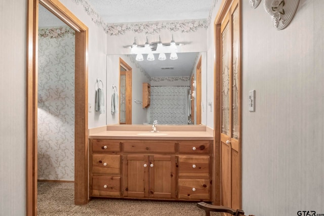
[[138, 45], [136, 37], [134, 37], [134, 43], [132, 46], [126, 46], [126, 48], [131, 49], [131, 54], [136, 54], [137, 61], [143, 61], [143, 54], [147, 54], [146, 60], [154, 61], [154, 53], [158, 53], [158, 60], [163, 61], [166, 60], [166, 53], [170, 53], [170, 59], [176, 60], [178, 59], [177, 52], [178, 47], [184, 45], [183, 43], [176, 43], [173, 39], [170, 43], [161, 42], [160, 36], [158, 36], [158, 41], [156, 42], [148, 42], [148, 38], [146, 37], [146, 42], [144, 45]]

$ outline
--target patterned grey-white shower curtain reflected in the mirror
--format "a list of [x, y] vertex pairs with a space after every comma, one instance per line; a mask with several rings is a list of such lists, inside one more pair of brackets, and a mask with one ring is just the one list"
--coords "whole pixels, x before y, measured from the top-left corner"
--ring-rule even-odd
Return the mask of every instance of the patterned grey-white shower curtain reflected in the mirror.
[[148, 108], [150, 124], [188, 124], [189, 87], [151, 86], [151, 105]]

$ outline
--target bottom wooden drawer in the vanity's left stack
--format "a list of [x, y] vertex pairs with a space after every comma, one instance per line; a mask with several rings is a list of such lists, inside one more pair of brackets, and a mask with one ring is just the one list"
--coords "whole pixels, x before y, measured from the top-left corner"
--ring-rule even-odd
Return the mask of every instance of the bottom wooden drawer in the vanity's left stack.
[[92, 177], [91, 196], [120, 196], [120, 177]]

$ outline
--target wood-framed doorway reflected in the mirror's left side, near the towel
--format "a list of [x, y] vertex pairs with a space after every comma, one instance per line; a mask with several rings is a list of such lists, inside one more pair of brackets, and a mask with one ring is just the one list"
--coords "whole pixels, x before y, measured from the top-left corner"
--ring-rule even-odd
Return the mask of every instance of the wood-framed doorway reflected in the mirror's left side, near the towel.
[[119, 124], [132, 124], [132, 68], [119, 58]]

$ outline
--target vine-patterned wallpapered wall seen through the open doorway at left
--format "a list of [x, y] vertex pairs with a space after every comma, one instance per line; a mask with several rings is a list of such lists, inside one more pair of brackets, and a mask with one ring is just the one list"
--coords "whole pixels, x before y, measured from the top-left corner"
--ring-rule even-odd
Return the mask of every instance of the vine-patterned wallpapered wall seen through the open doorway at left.
[[74, 35], [38, 31], [38, 179], [74, 180]]

